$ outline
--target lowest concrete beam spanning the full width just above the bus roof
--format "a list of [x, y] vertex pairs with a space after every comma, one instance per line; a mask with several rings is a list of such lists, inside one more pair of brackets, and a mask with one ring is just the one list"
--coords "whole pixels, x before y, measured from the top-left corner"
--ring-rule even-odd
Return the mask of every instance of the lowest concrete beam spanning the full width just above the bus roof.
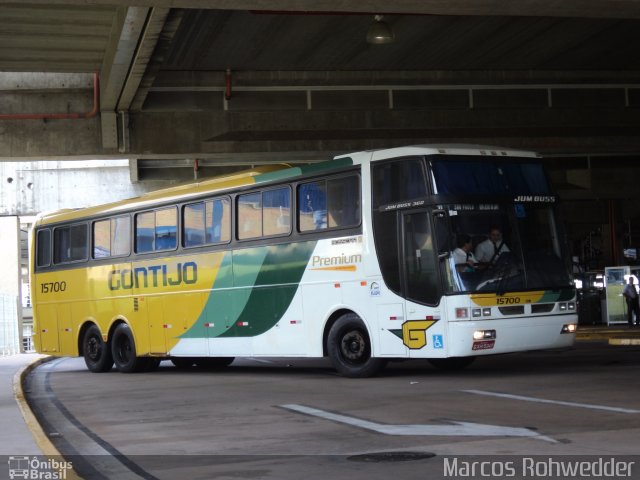
[[[630, 108], [203, 111], [131, 113], [135, 158], [227, 158], [257, 152], [353, 151], [425, 142], [484, 143], [545, 152], [640, 151]], [[120, 158], [98, 118], [2, 121], [0, 160]], [[274, 158], [280, 158], [280, 153]]]

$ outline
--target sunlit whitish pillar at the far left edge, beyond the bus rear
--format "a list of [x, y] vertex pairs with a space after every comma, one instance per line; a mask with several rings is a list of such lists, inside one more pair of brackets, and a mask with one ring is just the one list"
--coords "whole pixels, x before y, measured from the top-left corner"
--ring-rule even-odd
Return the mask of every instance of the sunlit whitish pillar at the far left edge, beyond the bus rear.
[[20, 297], [20, 220], [0, 217], [0, 350], [2, 354], [22, 349], [22, 302]]

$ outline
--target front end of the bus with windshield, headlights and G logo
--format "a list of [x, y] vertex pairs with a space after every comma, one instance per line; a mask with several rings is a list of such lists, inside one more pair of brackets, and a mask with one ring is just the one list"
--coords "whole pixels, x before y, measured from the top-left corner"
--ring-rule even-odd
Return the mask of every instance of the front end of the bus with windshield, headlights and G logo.
[[384, 282], [406, 300], [395, 331], [409, 356], [456, 368], [477, 355], [572, 345], [558, 199], [536, 155], [397, 154], [372, 162], [373, 231]]

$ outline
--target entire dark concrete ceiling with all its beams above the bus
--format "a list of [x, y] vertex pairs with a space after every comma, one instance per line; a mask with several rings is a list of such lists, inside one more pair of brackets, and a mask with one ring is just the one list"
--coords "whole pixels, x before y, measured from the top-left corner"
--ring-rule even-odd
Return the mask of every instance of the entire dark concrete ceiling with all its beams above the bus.
[[[0, 139], [0, 158], [312, 160], [443, 140], [640, 149], [635, 0], [129, 3], [0, 0], [0, 128], [37, 138]], [[374, 14], [394, 43], [366, 43]], [[95, 119], [47, 117], [91, 110], [82, 75], [96, 72]], [[42, 73], [69, 76], [34, 86]], [[25, 108], [44, 123], [20, 123]]]

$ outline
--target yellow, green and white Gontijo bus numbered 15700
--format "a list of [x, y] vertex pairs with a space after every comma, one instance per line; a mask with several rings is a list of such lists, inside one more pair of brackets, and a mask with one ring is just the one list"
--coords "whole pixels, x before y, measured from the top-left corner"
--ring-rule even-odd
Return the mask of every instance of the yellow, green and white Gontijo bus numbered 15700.
[[[42, 215], [36, 349], [93, 372], [328, 356], [365, 377], [389, 359], [459, 368], [567, 347], [576, 296], [557, 206], [535, 154], [415, 146]], [[494, 229], [498, 255], [456, 264], [456, 239], [473, 253]]]

